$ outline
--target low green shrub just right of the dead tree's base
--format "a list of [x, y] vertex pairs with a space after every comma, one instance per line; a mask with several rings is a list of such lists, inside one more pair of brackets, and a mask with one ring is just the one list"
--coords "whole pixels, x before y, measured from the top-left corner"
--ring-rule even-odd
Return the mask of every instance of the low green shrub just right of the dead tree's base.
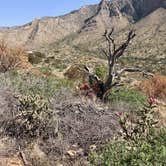
[[126, 106], [129, 109], [138, 109], [147, 100], [146, 96], [134, 89], [118, 89], [112, 91], [108, 96], [108, 101], [114, 106]]

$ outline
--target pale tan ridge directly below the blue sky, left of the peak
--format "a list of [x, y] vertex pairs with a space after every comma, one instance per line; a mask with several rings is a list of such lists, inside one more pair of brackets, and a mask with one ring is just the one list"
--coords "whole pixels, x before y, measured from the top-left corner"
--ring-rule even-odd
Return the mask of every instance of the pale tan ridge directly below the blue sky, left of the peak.
[[96, 5], [85, 6], [64, 16], [44, 17], [23, 26], [0, 28], [0, 39], [5, 39], [12, 45], [34, 47], [51, 43], [77, 32], [84, 25], [85, 19], [96, 13], [96, 8]]

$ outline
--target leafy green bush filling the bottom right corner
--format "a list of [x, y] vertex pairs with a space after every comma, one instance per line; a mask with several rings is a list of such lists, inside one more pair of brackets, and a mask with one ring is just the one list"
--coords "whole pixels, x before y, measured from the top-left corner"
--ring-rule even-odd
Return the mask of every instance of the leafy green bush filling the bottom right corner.
[[150, 140], [115, 141], [92, 152], [89, 160], [98, 166], [166, 165], [166, 129], [151, 132]]

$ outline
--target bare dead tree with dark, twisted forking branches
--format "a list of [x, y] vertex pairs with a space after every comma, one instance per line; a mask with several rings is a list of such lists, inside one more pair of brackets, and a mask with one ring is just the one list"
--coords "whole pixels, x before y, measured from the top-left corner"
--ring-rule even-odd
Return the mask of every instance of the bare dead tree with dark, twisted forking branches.
[[116, 46], [115, 40], [112, 37], [112, 34], [114, 32], [114, 29], [112, 29], [110, 32], [107, 30], [104, 33], [104, 38], [106, 39], [106, 42], [108, 44], [107, 49], [101, 49], [102, 53], [106, 56], [108, 61], [108, 76], [106, 81], [100, 80], [98, 77], [96, 77], [94, 74], [90, 73], [88, 68], [85, 67], [85, 70], [87, 73], [89, 73], [89, 82], [90, 80], [95, 80], [95, 84], [98, 86], [99, 92], [97, 92], [97, 97], [100, 99], [104, 99], [107, 97], [110, 89], [112, 89], [114, 86], [119, 86], [120, 82], [115, 81], [116, 78], [120, 77], [120, 75], [124, 72], [142, 72], [143, 74], [147, 74], [143, 70], [139, 68], [123, 68], [119, 71], [115, 69], [116, 63], [118, 59], [123, 56], [124, 51], [127, 49], [128, 45], [130, 44], [130, 41], [136, 36], [135, 32], [131, 30], [128, 33], [127, 39], [124, 43], [122, 43], [120, 46]]

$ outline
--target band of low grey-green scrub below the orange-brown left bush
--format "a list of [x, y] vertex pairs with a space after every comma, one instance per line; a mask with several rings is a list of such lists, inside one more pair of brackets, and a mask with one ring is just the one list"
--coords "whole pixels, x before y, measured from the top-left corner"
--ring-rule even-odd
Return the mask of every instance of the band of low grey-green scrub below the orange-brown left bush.
[[9, 87], [24, 95], [39, 94], [45, 98], [63, 98], [72, 94], [73, 81], [58, 79], [55, 76], [34, 75], [10, 71], [0, 74], [0, 86]]

